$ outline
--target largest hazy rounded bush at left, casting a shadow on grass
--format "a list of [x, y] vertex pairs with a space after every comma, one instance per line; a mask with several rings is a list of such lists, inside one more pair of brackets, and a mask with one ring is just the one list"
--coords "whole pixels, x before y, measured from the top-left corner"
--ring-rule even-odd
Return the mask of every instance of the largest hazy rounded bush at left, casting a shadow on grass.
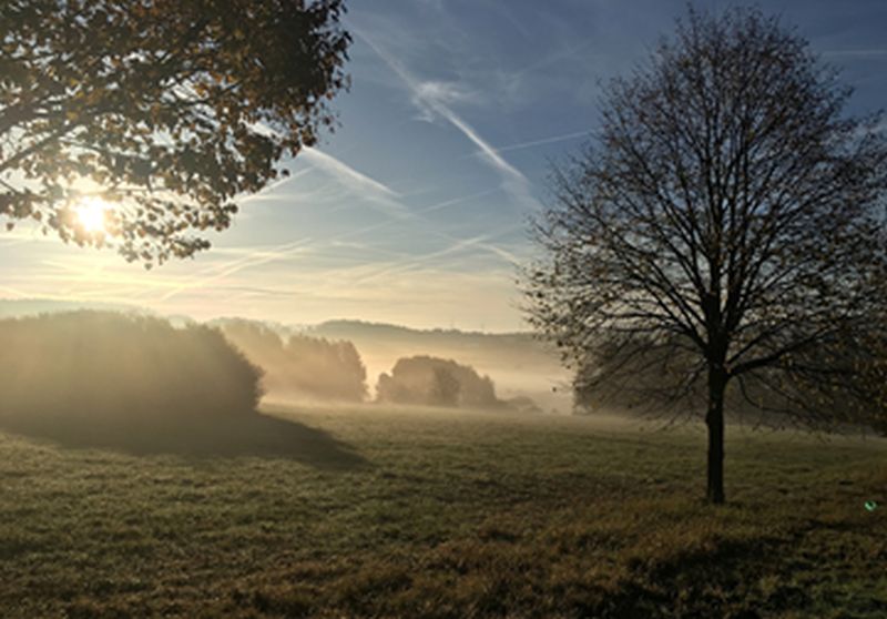
[[0, 419], [132, 423], [252, 415], [261, 372], [211, 327], [106, 312], [0, 321]]

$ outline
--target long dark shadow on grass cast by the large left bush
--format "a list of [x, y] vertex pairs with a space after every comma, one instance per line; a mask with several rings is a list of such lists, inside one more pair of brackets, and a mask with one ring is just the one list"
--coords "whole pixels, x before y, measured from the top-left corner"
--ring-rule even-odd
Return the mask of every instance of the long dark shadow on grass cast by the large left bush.
[[261, 413], [151, 420], [142, 416], [126, 420], [4, 416], [0, 429], [50, 439], [67, 448], [106, 448], [133, 455], [287, 458], [325, 469], [368, 464], [324, 430]]

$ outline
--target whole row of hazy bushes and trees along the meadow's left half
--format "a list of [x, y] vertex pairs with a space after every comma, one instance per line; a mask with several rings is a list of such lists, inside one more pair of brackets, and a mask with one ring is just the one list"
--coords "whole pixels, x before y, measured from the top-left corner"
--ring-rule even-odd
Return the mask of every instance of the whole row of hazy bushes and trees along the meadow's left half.
[[[7, 425], [251, 415], [266, 394], [369, 399], [354, 344], [252, 321], [173, 326], [147, 315], [78, 311], [0, 319], [0, 422]], [[499, 399], [492, 379], [469, 365], [427, 355], [398, 359], [375, 387], [379, 404], [541, 412], [526, 397]]]

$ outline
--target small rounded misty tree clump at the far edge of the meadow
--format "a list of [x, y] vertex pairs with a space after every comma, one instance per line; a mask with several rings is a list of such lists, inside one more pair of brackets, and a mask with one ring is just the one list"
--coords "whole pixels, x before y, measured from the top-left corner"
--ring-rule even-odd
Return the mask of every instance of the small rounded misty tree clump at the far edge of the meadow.
[[376, 386], [379, 402], [431, 406], [498, 407], [489, 376], [451, 359], [417, 355], [397, 359], [391, 374], [383, 373]]

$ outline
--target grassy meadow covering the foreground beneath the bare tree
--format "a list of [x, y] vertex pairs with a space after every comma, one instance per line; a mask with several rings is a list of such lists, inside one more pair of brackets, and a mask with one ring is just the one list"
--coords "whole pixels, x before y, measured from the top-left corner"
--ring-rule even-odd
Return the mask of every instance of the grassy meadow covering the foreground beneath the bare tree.
[[887, 617], [885, 440], [730, 427], [713, 508], [699, 427], [267, 412], [0, 433], [0, 617]]

